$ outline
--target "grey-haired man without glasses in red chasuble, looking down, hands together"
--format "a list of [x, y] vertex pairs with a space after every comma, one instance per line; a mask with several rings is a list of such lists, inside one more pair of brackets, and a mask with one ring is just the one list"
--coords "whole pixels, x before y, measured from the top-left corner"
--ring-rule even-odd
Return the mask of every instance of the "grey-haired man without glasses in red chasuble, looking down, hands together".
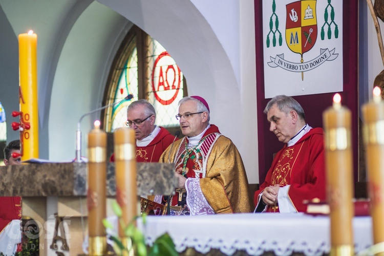
[[285, 95], [272, 98], [264, 113], [285, 145], [254, 194], [255, 212], [300, 212], [306, 210], [303, 200], [325, 200], [323, 129], [309, 126], [302, 106]]

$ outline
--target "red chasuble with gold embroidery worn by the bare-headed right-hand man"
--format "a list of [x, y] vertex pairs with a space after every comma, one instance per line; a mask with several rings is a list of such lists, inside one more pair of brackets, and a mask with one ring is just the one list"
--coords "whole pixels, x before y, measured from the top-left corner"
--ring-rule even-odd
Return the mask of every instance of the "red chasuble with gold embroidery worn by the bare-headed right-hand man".
[[[326, 199], [323, 135], [323, 129], [313, 128], [294, 145], [287, 146], [286, 144], [276, 154], [264, 183], [254, 194], [254, 203], [258, 206], [257, 211], [259, 208], [264, 209], [265, 207], [265, 204], [264, 206], [258, 205], [258, 200], [259, 194], [267, 186], [290, 185], [288, 197], [296, 211], [306, 211], [304, 200]], [[268, 205], [266, 211], [279, 212], [279, 205]]]

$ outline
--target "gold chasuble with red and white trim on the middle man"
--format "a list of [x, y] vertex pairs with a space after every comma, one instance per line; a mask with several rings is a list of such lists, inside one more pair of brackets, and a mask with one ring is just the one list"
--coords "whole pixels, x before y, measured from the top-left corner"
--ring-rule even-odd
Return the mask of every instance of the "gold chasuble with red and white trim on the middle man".
[[216, 214], [250, 212], [247, 176], [232, 141], [211, 124], [197, 146], [186, 150], [187, 144], [186, 137], [176, 141], [172, 152], [169, 146], [159, 162], [174, 162], [176, 169], [186, 166], [186, 177], [200, 179], [201, 191]]

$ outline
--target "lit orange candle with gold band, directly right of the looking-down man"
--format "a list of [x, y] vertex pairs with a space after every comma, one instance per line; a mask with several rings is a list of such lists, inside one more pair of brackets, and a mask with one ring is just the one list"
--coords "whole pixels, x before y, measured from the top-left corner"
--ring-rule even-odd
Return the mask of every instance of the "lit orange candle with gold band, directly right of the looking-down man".
[[331, 255], [353, 255], [351, 111], [340, 102], [337, 93], [323, 113]]

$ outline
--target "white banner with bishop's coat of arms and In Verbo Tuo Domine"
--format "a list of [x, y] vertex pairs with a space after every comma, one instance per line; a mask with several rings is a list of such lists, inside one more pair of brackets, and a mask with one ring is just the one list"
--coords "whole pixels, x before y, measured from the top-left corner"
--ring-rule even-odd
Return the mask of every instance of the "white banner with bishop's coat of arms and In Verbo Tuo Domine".
[[343, 91], [343, 1], [263, 1], [265, 98]]

